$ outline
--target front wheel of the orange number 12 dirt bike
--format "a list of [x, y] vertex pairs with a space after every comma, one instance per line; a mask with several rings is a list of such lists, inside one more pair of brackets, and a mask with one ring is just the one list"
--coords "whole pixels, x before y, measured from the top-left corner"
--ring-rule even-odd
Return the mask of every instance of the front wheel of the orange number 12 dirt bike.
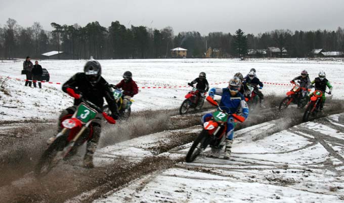
[[205, 149], [210, 142], [209, 134], [206, 130], [202, 130], [202, 132], [196, 137], [195, 141], [192, 143], [188, 154], [186, 155], [186, 162], [191, 163], [196, 159], [196, 157], [201, 153], [201, 149]]

